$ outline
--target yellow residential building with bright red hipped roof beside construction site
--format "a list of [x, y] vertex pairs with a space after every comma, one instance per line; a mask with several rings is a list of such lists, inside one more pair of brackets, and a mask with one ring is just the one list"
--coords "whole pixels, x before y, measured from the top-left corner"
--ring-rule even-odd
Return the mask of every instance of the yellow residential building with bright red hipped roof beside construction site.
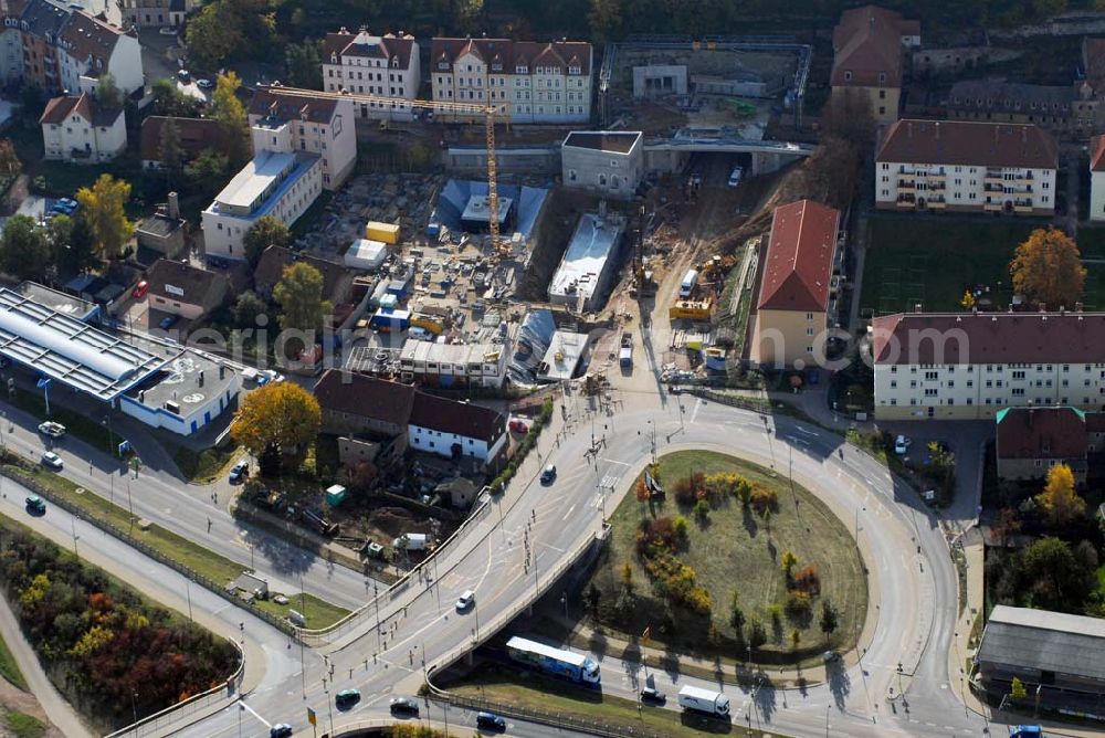
[[754, 362], [812, 367], [824, 356], [825, 329], [836, 320], [839, 232], [840, 211], [819, 202], [776, 208], [753, 323]]

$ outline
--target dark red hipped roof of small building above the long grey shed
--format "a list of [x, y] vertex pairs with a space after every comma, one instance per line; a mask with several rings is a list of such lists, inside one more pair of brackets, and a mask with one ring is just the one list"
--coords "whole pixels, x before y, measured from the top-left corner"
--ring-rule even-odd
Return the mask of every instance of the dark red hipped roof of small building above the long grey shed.
[[998, 413], [998, 458], [1080, 458], [1086, 420], [1074, 408], [1008, 408]]

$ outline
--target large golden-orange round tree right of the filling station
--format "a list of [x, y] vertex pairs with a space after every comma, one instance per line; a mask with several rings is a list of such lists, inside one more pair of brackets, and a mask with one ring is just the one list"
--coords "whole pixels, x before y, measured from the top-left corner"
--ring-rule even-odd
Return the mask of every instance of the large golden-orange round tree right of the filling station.
[[273, 473], [281, 461], [295, 468], [318, 435], [322, 411], [315, 396], [295, 382], [270, 382], [242, 400], [230, 426], [234, 441]]

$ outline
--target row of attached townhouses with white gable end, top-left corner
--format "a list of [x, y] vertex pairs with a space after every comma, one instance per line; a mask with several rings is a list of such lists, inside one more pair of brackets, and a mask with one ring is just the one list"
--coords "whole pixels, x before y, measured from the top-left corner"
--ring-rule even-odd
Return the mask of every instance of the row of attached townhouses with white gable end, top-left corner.
[[28, 0], [18, 28], [22, 77], [31, 84], [75, 95], [110, 74], [124, 94], [143, 87], [141, 49], [133, 32], [54, 0]]

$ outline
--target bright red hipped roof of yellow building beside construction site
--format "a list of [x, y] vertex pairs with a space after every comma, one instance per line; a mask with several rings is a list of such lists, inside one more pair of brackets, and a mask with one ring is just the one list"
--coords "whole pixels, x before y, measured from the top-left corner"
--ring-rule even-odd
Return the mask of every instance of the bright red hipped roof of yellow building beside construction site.
[[825, 310], [839, 225], [840, 211], [812, 200], [776, 208], [759, 309]]

